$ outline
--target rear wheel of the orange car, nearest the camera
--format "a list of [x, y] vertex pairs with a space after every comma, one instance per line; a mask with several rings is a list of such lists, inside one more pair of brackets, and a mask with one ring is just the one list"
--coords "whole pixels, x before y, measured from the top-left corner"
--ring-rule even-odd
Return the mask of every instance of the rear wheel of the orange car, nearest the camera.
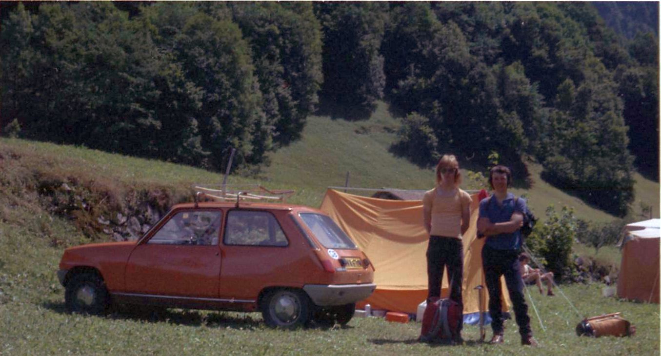
[[311, 301], [303, 291], [276, 289], [264, 297], [262, 316], [272, 328], [294, 329], [306, 326], [311, 315]]

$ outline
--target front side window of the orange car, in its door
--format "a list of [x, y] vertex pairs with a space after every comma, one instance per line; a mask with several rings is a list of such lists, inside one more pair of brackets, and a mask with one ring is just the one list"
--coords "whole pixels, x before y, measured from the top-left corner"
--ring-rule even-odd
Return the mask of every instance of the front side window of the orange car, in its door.
[[180, 211], [147, 244], [217, 245], [221, 211]]

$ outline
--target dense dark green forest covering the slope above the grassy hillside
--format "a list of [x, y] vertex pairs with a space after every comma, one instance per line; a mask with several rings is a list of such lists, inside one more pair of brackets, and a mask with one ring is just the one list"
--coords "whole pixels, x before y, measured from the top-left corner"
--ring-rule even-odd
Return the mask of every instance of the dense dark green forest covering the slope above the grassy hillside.
[[2, 3], [0, 131], [224, 170], [307, 116], [403, 118], [391, 151], [525, 162], [623, 216], [658, 180], [658, 3]]

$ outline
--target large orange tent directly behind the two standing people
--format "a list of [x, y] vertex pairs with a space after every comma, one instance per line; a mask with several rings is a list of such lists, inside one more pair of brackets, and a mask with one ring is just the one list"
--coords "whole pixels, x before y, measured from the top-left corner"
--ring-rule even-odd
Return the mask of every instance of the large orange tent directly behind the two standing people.
[[[474, 288], [485, 285], [481, 257], [485, 242], [476, 238], [479, 200], [477, 194], [472, 197], [471, 224], [463, 236], [464, 314], [479, 312], [478, 292]], [[429, 235], [422, 224], [422, 201], [377, 199], [329, 189], [320, 209], [351, 236], [376, 269], [376, 291], [364, 303], [373, 309], [415, 314], [418, 304], [427, 298], [425, 254]], [[501, 283], [502, 291], [506, 291], [504, 280]], [[442, 297], [449, 295], [447, 286], [446, 271]], [[508, 294], [504, 293], [502, 299], [503, 310], [508, 310]], [[486, 289], [481, 303], [486, 312]]]

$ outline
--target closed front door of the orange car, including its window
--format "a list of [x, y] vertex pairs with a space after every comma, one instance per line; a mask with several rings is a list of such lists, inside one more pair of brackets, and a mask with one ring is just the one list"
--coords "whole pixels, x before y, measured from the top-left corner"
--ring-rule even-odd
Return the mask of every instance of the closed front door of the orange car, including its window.
[[126, 291], [144, 295], [217, 298], [222, 211], [182, 210], [131, 253]]

